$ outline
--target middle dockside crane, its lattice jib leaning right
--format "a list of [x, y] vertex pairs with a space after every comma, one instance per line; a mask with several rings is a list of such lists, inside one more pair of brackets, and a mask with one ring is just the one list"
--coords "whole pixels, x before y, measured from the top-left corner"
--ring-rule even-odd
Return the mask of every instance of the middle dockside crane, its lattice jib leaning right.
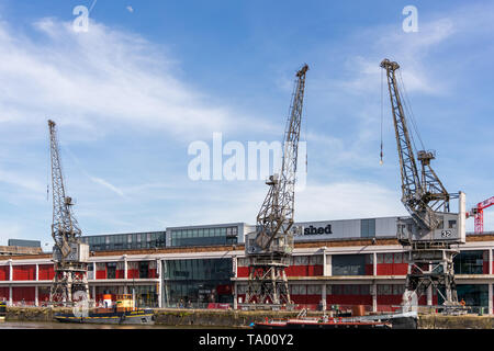
[[249, 276], [246, 304], [250, 307], [290, 306], [285, 268], [293, 251], [293, 214], [300, 128], [305, 90], [304, 65], [296, 72], [295, 88], [287, 120], [281, 172], [269, 177], [268, 194], [257, 215], [256, 231], [247, 235]]

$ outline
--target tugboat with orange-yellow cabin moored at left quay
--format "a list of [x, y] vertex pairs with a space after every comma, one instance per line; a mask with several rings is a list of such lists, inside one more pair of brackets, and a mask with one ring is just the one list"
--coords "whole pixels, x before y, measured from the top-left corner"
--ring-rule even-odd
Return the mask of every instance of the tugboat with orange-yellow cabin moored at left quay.
[[104, 308], [94, 308], [87, 314], [57, 313], [54, 318], [60, 322], [154, 325], [154, 312], [150, 308], [136, 308], [130, 294], [116, 295], [112, 306], [112, 296], [103, 295]]

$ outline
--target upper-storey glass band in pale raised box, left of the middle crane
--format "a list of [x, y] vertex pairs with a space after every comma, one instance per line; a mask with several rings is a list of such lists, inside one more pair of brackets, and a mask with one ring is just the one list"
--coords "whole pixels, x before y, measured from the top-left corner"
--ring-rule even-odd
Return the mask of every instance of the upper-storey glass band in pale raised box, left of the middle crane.
[[171, 246], [212, 246], [237, 244], [237, 227], [183, 228], [170, 230]]

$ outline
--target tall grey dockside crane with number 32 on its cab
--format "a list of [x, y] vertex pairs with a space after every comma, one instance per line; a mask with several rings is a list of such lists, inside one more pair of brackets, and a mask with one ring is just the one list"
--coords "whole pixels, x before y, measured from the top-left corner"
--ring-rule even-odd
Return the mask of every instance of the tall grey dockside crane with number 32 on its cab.
[[[458, 245], [465, 242], [465, 195], [446, 191], [430, 167], [430, 161], [436, 158], [435, 151], [418, 150], [418, 162], [415, 159], [396, 79], [400, 65], [384, 59], [381, 68], [388, 77], [400, 157], [402, 203], [412, 216], [397, 220], [397, 239], [407, 250], [409, 262], [404, 301], [420, 297], [431, 286], [445, 301], [444, 306], [459, 306], [453, 258], [459, 252]], [[450, 213], [452, 199], [459, 200], [458, 213]]]

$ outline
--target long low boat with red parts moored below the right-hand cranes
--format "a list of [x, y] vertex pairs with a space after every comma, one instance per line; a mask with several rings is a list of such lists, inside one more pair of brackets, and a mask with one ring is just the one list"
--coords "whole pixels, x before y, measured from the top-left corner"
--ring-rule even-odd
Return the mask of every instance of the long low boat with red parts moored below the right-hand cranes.
[[382, 315], [358, 315], [348, 317], [306, 317], [306, 310], [296, 318], [277, 320], [266, 319], [252, 322], [254, 329], [417, 329], [416, 312]]

